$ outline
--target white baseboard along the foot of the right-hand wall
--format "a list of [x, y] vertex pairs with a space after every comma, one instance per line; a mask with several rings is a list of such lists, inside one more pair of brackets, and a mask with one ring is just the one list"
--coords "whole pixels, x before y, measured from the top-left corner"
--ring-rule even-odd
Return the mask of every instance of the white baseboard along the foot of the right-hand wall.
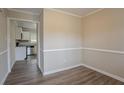
[[117, 80], [119, 80], [119, 81], [124, 82], [124, 78], [123, 78], [123, 77], [120, 77], [120, 76], [117, 76], [117, 75], [108, 73], [108, 72], [106, 72], [106, 71], [97, 69], [97, 68], [95, 68], [95, 67], [92, 67], [92, 66], [89, 66], [89, 65], [86, 65], [86, 64], [81, 64], [81, 65], [84, 66], [84, 67], [90, 68], [90, 69], [92, 69], [92, 70], [95, 70], [95, 71], [97, 71], [97, 72], [99, 72], [99, 73], [102, 73], [102, 74], [104, 74], [104, 75], [106, 75], [106, 76], [109, 76], [109, 77], [112, 77], [112, 78], [114, 78], [114, 79], [117, 79]]

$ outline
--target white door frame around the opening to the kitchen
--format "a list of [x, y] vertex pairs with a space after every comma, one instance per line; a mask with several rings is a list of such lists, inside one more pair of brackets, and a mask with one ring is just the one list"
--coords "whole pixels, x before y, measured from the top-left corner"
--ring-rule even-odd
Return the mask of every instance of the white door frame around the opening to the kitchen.
[[11, 67], [10, 67], [10, 20], [14, 21], [26, 21], [26, 22], [32, 22], [37, 24], [37, 62], [38, 62], [38, 67], [42, 72], [41, 69], [41, 57], [40, 57], [40, 21], [34, 21], [34, 20], [27, 20], [27, 19], [21, 19], [21, 18], [12, 18], [12, 17], [7, 17], [7, 50], [8, 50], [8, 72], [11, 72]]

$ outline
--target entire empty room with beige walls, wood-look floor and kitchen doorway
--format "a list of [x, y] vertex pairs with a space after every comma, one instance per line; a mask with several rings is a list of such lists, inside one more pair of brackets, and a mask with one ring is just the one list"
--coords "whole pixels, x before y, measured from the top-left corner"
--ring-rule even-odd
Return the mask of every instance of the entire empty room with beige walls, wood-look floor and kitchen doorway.
[[1, 85], [123, 85], [123, 8], [0, 8]]

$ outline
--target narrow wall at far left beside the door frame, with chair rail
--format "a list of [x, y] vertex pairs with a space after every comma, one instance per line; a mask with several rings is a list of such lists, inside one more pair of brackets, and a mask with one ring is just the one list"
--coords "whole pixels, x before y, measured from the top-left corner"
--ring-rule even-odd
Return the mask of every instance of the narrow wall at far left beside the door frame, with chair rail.
[[8, 73], [8, 60], [7, 60], [7, 17], [5, 10], [0, 12], [0, 84]]

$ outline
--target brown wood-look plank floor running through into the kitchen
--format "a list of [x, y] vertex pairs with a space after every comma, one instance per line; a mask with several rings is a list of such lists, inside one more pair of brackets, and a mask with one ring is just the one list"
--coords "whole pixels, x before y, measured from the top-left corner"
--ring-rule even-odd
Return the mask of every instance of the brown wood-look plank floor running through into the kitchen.
[[83, 66], [43, 76], [35, 62], [16, 62], [5, 85], [122, 85], [123, 82]]

